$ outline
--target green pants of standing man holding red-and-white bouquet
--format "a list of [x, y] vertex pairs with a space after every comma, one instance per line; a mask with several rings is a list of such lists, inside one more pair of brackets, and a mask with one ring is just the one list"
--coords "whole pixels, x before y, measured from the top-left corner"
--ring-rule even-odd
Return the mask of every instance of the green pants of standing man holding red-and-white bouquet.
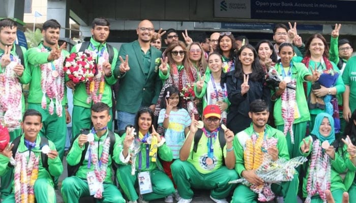
[[[109, 130], [112, 129], [111, 121], [112, 121], [112, 111], [111, 108], [109, 110], [111, 119], [107, 125]], [[80, 129], [90, 129], [92, 125], [91, 119], [92, 111], [89, 108], [74, 106], [72, 113], [72, 138], [73, 139], [79, 132]]]

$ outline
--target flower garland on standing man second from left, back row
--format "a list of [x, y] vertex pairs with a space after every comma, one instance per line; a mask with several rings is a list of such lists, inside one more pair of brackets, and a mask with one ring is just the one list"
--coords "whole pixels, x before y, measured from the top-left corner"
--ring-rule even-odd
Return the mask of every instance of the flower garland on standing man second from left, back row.
[[[41, 52], [48, 52], [48, 50], [42, 46]], [[64, 57], [61, 54], [60, 58], [41, 65], [41, 88], [42, 88], [42, 109], [47, 108], [47, 98], [50, 99], [49, 103], [49, 114], [52, 115], [54, 111], [55, 99], [55, 109], [58, 117], [62, 117], [62, 100], [64, 98], [64, 71], [63, 71]], [[53, 70], [54, 69], [54, 70]], [[55, 73], [55, 74], [53, 74]], [[57, 75], [56, 75], [57, 74]]]

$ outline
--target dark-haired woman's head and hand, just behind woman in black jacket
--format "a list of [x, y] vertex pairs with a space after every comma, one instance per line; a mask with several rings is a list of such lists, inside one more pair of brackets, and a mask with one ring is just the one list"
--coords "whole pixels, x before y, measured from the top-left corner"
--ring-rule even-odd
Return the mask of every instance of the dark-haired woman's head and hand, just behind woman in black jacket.
[[269, 40], [261, 40], [256, 45], [259, 62], [263, 70], [267, 73], [271, 67], [277, 63], [277, 53], [274, 51], [273, 44]]

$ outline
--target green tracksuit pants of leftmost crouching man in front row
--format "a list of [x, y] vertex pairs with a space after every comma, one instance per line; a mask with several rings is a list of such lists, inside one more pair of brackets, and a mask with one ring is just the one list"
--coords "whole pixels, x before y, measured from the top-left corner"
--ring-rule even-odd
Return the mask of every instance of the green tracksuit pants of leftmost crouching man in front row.
[[[55, 203], [56, 197], [53, 188], [53, 184], [49, 180], [41, 178], [37, 179], [34, 185], [35, 198], [37, 202]], [[6, 196], [2, 203], [14, 203], [15, 194], [14, 191]]]

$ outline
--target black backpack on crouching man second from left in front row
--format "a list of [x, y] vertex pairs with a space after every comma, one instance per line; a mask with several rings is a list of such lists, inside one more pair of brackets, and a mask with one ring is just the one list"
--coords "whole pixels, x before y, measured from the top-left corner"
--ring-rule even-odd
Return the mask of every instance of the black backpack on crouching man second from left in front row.
[[[115, 134], [111, 131], [111, 130], [108, 130], [108, 136], [110, 138], [110, 147], [109, 147], [109, 154], [112, 156], [113, 155], [113, 150], [114, 150], [114, 144], [115, 144]], [[80, 136], [80, 134], [89, 134], [90, 133], [90, 129], [81, 129], [80, 130], [80, 133], [78, 133], [75, 138], [73, 139], [73, 142], [75, 139], [78, 138], [78, 136]], [[71, 143], [71, 147], [69, 148], [69, 151], [72, 149], [72, 146], [73, 146], [73, 142]], [[78, 164], [76, 165], [69, 165], [67, 163], [67, 169], [68, 169], [68, 177], [70, 176], [75, 176], [75, 174], [77, 173], [79, 167], [83, 164], [83, 161], [84, 161], [84, 158], [85, 158], [85, 154], [86, 154], [86, 151], [88, 149], [88, 146], [89, 146], [89, 143], [86, 142], [84, 144], [84, 150], [82, 151], [81, 153], [81, 157], [80, 157], [80, 161]], [[114, 173], [116, 173], [116, 170], [117, 170], [117, 167], [118, 167], [118, 164], [112, 159], [111, 160], [111, 166], [112, 166], [112, 169], [114, 170]]]

